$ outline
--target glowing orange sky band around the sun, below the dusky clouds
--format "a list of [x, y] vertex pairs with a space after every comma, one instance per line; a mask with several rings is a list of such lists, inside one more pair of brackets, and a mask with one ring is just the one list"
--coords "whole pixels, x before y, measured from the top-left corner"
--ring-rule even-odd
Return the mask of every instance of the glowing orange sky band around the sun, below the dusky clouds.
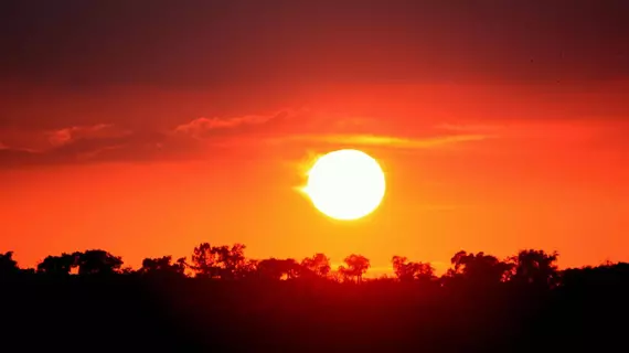
[[[330, 108], [218, 117], [222, 125], [195, 125], [193, 117], [186, 126], [196, 130], [180, 126], [172, 135], [198, 136], [203, 143], [194, 159], [140, 156], [3, 170], [2, 248], [25, 266], [95, 247], [138, 266], [143, 256], [189, 255], [204, 240], [245, 243], [250, 257], [324, 252], [341, 261], [355, 252], [374, 267], [404, 255], [443, 268], [438, 263], [459, 249], [508, 256], [525, 247], [557, 249], [563, 266], [629, 260], [629, 159], [618, 133], [627, 125], [597, 113], [598, 99], [614, 105], [610, 110], [626, 110], [626, 103], [587, 93], [553, 99], [540, 93], [544, 87], [530, 95], [503, 87], [385, 88], [340, 87], [316, 97], [321, 107], [330, 99]], [[419, 105], [425, 90], [431, 104]], [[141, 105], [150, 106], [139, 97], [118, 109]], [[513, 116], [500, 120], [493, 109]], [[573, 111], [600, 118], [571, 118]], [[535, 118], [523, 118], [530, 115]], [[384, 203], [359, 222], [332, 222], [294, 190], [317, 153], [343, 147], [372, 153], [387, 174]]]

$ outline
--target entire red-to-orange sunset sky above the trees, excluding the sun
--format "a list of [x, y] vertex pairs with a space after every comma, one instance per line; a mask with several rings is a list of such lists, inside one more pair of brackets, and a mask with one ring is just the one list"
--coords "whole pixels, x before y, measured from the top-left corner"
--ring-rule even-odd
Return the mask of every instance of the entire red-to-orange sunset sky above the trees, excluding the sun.
[[[629, 261], [629, 2], [0, 4], [0, 250]], [[386, 172], [372, 215], [296, 191]]]

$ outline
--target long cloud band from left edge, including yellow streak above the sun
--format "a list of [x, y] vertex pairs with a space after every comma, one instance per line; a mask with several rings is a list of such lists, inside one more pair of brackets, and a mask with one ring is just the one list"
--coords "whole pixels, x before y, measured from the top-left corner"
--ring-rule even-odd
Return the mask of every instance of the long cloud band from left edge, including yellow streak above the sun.
[[[483, 133], [459, 133], [408, 138], [358, 133], [376, 128], [363, 124], [365, 119], [314, 116], [308, 109], [281, 109], [268, 115], [202, 117], [164, 130], [156, 130], [149, 126], [129, 129], [110, 124], [70, 126], [32, 132], [32, 145], [28, 143], [28, 138], [22, 137], [20, 143], [0, 145], [0, 168], [191, 160], [209, 158], [218, 150], [223, 153], [231, 149], [258, 149], [268, 145], [290, 142], [428, 149], [493, 137]], [[343, 133], [339, 133], [340, 131]]]

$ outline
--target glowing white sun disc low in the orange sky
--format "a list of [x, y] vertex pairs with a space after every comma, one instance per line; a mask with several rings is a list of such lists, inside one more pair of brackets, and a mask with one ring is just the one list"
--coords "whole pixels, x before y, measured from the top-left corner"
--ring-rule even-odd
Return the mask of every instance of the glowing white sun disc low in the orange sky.
[[359, 150], [320, 157], [308, 172], [305, 192], [327, 216], [351, 221], [372, 213], [385, 193], [385, 178], [375, 159]]

